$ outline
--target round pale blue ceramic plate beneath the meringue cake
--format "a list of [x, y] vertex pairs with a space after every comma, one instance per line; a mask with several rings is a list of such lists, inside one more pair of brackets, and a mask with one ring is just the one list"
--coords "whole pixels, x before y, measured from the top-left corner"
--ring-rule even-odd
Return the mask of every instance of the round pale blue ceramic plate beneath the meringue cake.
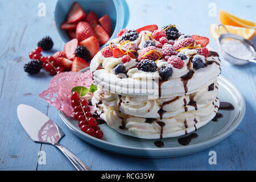
[[139, 139], [122, 135], [110, 128], [106, 123], [100, 125], [101, 130], [104, 132], [104, 137], [97, 139], [83, 133], [75, 119], [67, 117], [61, 112], [59, 114], [64, 123], [78, 137], [106, 151], [143, 158], [168, 158], [188, 155], [203, 151], [227, 138], [236, 130], [245, 114], [245, 101], [237, 88], [221, 76], [218, 77], [218, 84], [219, 100], [230, 102], [235, 109], [232, 111], [220, 110], [219, 112], [224, 117], [218, 119], [218, 122], [210, 121], [207, 125], [194, 131], [193, 133], [196, 133], [199, 137], [193, 139], [188, 146], [179, 144], [177, 139], [180, 137], [176, 137], [163, 139], [164, 147], [159, 148], [154, 144], [156, 139]]

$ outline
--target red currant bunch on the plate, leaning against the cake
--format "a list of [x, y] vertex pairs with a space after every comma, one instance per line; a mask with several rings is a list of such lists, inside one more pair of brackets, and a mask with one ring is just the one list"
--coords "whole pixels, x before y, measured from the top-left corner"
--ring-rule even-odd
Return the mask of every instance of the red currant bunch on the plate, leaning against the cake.
[[95, 118], [90, 113], [88, 101], [80, 97], [78, 92], [73, 92], [71, 96], [71, 105], [75, 112], [74, 118], [79, 121], [79, 128], [84, 133], [96, 138], [102, 138], [103, 132]]

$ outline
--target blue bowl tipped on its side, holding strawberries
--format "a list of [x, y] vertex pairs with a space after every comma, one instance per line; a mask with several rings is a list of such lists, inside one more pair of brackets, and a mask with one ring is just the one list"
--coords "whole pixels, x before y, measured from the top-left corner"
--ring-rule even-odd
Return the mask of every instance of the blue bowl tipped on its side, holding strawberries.
[[79, 2], [86, 13], [94, 11], [98, 17], [108, 14], [112, 20], [113, 34], [110, 38], [114, 39], [118, 32], [125, 28], [129, 20], [129, 7], [125, 0], [59, 0], [55, 7], [55, 24], [57, 31], [64, 42], [71, 40], [68, 32], [60, 28], [68, 15], [69, 9], [74, 2]]

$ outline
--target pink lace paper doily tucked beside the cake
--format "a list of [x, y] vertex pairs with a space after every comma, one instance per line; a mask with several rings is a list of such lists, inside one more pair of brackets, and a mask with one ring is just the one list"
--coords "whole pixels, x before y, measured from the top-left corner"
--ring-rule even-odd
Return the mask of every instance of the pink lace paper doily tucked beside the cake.
[[[56, 107], [57, 110], [63, 111], [66, 115], [73, 117], [73, 107], [71, 106], [71, 90], [75, 86], [85, 86], [90, 88], [92, 85], [92, 75], [90, 71], [84, 73], [64, 72], [52, 78], [49, 88], [39, 94], [49, 104]], [[92, 98], [92, 94], [88, 92], [85, 98]]]

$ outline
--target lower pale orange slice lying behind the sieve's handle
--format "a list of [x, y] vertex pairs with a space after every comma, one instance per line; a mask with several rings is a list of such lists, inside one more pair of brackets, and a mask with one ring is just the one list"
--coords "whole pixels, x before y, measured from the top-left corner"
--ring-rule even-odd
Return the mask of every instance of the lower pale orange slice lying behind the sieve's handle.
[[[220, 34], [218, 33], [217, 24], [211, 24], [210, 25], [210, 34], [213, 36], [215, 40], [218, 39], [218, 36]], [[254, 28], [242, 28], [242, 27], [234, 27], [234, 26], [228, 26], [225, 25], [226, 29], [229, 31], [229, 33], [237, 34], [242, 36], [245, 39], [251, 39], [255, 35], [255, 29]], [[221, 34], [226, 33], [226, 30], [224, 27], [220, 27]]]

